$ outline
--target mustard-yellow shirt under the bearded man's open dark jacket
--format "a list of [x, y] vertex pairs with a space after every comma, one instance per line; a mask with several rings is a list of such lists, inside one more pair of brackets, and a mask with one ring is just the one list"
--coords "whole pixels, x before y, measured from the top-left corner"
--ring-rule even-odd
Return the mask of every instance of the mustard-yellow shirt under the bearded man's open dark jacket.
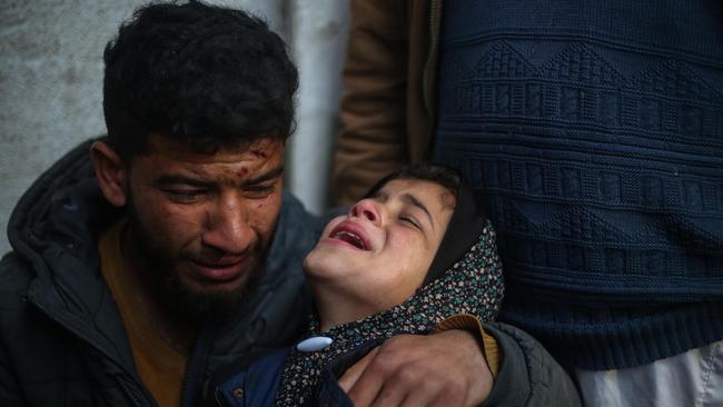
[[153, 329], [135, 295], [136, 280], [123, 267], [120, 236], [127, 221], [121, 220], [100, 236], [100, 270], [110, 286], [126, 324], [136, 367], [143, 384], [161, 407], [180, 406], [186, 360]]

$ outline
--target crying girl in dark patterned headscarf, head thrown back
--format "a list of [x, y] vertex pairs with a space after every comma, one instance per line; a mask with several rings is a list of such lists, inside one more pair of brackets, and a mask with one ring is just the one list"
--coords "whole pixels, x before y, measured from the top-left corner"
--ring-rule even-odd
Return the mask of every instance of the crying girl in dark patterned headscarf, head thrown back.
[[[475, 334], [493, 376], [511, 374], [514, 358], [508, 355], [505, 366], [492, 337], [505, 329], [491, 324], [504, 287], [494, 230], [450, 167], [415, 165], [383, 178], [347, 215], [327, 224], [304, 271], [315, 312], [303, 340], [226, 368], [211, 386], [211, 404], [350, 406], [346, 390], [364, 379], [366, 361], [385, 339], [448, 328]], [[578, 405], [562, 368], [548, 355], [541, 360], [553, 379], [532, 375], [531, 383], [547, 383], [525, 405]], [[349, 379], [339, 384], [345, 371]], [[376, 403], [414, 406], [425, 393], [389, 399], [382, 391]], [[497, 397], [493, 405], [519, 405]], [[453, 394], [435, 403], [472, 400]]]

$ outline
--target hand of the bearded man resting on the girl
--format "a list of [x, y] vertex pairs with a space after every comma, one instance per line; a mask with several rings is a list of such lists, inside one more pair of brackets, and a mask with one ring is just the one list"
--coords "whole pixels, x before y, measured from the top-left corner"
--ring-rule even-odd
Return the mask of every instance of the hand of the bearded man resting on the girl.
[[387, 339], [339, 380], [357, 407], [476, 406], [493, 378], [472, 334], [446, 330]]

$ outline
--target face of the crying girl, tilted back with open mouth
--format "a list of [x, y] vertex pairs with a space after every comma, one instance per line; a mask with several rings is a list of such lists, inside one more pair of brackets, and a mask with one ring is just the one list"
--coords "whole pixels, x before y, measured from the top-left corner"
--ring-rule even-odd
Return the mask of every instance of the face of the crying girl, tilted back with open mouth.
[[454, 205], [438, 183], [392, 180], [329, 221], [304, 269], [313, 285], [354, 296], [374, 311], [390, 308], [424, 281]]

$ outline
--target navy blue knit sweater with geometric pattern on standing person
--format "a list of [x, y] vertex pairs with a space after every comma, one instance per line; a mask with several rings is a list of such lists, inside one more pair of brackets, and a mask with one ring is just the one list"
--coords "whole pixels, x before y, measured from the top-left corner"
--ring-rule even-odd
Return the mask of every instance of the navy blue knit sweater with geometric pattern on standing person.
[[563, 363], [723, 338], [723, 2], [443, 4], [435, 158], [486, 201], [502, 319]]

